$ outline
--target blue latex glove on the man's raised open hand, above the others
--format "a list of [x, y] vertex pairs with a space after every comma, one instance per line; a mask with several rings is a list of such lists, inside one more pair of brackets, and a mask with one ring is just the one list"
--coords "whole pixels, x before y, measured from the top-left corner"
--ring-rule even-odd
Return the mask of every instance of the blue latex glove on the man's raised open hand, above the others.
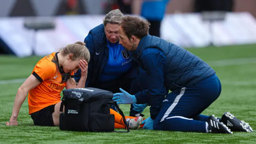
[[117, 104], [133, 104], [137, 101], [134, 95], [129, 94], [122, 88], [119, 88], [119, 90], [122, 93], [116, 93], [112, 98], [112, 100], [116, 101]]

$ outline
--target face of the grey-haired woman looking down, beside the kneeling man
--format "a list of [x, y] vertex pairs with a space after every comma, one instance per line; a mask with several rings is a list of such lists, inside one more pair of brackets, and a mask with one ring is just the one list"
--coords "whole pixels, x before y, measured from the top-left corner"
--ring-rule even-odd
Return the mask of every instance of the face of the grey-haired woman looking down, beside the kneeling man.
[[105, 34], [111, 43], [116, 43], [119, 40], [119, 34], [118, 34], [118, 24], [110, 24], [107, 23], [105, 26]]

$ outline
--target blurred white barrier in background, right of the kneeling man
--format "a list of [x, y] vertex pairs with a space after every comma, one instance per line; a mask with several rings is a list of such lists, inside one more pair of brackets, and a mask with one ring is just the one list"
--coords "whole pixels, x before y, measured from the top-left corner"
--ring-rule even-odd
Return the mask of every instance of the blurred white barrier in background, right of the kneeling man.
[[203, 22], [200, 14], [167, 15], [161, 37], [183, 47], [204, 47], [256, 43], [256, 20], [247, 12], [228, 13], [223, 22]]

